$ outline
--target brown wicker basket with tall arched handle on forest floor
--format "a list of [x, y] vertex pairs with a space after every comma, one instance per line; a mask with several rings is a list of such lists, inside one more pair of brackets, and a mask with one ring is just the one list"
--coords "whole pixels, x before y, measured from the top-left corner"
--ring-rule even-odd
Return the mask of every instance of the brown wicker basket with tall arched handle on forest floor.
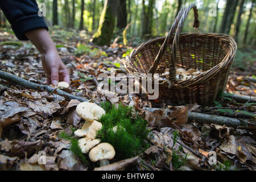
[[[196, 5], [182, 8], [166, 37], [141, 44], [126, 57], [125, 68], [135, 76], [141, 73], [164, 73], [169, 68], [169, 80], [159, 80], [159, 100], [175, 105], [210, 105], [218, 92], [223, 92], [236, 54], [237, 44], [225, 34], [183, 33], [181, 28], [193, 8], [194, 28], [199, 28]], [[175, 32], [175, 34], [174, 34]], [[203, 70], [188, 80], [176, 80], [176, 68]], [[137, 73], [137, 74], [136, 74]]]

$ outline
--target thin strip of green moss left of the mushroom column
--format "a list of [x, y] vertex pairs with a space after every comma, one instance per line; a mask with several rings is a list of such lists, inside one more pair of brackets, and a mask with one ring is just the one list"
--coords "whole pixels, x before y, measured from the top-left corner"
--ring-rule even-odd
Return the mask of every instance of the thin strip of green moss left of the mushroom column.
[[81, 148], [79, 147], [79, 142], [78, 142], [79, 139], [77, 139], [75, 137], [71, 137], [70, 135], [68, 135], [64, 132], [60, 133], [59, 137], [66, 139], [66, 140], [70, 140], [71, 141], [70, 150], [72, 151], [72, 153], [74, 155], [76, 155], [80, 160], [82, 160], [82, 162], [89, 164], [88, 161], [86, 160], [84, 154], [82, 154]]

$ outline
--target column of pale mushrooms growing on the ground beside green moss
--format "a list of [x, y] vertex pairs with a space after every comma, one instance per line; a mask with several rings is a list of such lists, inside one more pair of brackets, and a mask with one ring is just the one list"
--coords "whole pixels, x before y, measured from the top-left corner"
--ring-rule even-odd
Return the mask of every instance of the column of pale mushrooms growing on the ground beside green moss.
[[85, 123], [81, 129], [75, 131], [79, 139], [79, 147], [82, 153], [88, 154], [92, 162], [100, 162], [100, 166], [109, 164], [109, 160], [115, 156], [114, 147], [109, 143], [100, 143], [101, 139], [96, 139], [97, 131], [102, 128], [102, 124], [97, 120], [105, 114], [105, 110], [100, 106], [90, 102], [81, 102], [76, 107], [77, 114]]

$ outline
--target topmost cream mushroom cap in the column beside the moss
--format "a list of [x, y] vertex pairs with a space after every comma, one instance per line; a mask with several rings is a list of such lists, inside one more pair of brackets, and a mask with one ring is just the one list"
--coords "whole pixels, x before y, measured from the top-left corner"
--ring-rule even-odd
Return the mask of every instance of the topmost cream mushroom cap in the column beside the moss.
[[76, 106], [76, 112], [81, 118], [90, 122], [100, 119], [105, 114], [104, 109], [90, 102], [81, 102]]

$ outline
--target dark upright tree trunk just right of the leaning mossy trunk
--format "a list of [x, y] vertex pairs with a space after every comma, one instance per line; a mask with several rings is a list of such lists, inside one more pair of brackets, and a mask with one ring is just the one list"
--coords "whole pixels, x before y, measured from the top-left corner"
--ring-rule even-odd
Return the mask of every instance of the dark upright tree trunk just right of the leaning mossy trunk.
[[119, 0], [117, 10], [117, 28], [123, 29], [127, 23], [126, 0]]

